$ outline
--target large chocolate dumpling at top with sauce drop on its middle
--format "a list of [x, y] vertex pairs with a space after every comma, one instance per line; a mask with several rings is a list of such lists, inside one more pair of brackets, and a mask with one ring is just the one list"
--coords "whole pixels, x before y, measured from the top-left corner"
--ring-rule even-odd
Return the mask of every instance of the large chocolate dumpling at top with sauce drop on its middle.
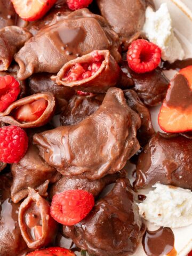
[[93, 50], [109, 50], [121, 60], [118, 35], [100, 15], [81, 9], [44, 26], [15, 54], [20, 80], [34, 73], [58, 73], [70, 60]]

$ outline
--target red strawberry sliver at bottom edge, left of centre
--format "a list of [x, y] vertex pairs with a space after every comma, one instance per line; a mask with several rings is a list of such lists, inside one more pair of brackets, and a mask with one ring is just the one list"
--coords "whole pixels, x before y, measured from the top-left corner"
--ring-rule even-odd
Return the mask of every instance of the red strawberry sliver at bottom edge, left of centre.
[[75, 253], [61, 247], [50, 247], [31, 252], [27, 256], [75, 256]]

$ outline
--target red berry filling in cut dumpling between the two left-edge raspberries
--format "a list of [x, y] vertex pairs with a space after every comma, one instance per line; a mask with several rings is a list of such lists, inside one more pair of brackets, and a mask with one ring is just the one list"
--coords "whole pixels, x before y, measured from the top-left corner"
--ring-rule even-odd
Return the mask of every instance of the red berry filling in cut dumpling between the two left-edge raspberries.
[[14, 110], [13, 117], [20, 122], [33, 122], [41, 117], [48, 105], [45, 99], [35, 100]]

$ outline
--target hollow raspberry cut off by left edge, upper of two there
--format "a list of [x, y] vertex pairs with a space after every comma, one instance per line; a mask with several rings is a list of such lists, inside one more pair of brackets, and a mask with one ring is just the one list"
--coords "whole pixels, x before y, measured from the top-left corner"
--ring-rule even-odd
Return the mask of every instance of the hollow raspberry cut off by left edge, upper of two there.
[[19, 82], [13, 76], [0, 77], [0, 112], [17, 100], [19, 93]]

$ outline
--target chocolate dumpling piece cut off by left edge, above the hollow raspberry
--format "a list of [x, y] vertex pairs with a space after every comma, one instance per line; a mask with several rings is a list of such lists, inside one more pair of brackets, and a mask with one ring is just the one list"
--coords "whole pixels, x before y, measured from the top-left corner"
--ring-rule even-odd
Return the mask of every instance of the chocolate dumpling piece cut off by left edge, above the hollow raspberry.
[[7, 70], [17, 53], [32, 35], [18, 26], [0, 29], [0, 71]]

